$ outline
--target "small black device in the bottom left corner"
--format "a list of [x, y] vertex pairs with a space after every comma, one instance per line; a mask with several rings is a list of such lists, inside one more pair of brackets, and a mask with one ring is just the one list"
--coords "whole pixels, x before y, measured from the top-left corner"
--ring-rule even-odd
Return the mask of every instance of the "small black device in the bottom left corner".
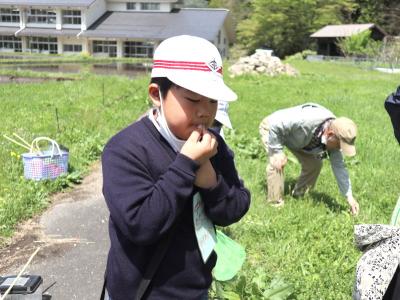
[[[16, 275], [0, 276], [0, 293], [5, 293], [16, 277]], [[10, 294], [34, 293], [42, 282], [43, 279], [39, 275], [22, 275], [15, 282]]]

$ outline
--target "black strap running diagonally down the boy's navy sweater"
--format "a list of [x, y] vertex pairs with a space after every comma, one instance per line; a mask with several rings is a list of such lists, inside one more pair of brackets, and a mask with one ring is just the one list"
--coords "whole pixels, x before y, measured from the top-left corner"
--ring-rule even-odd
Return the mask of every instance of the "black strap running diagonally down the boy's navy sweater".
[[163, 260], [165, 254], [167, 253], [168, 246], [171, 242], [172, 236], [175, 232], [176, 224], [169, 232], [168, 236], [166, 236], [159, 244], [151, 257], [150, 263], [147, 265], [146, 271], [144, 272], [144, 276], [139, 283], [138, 290], [136, 292], [135, 300], [142, 300], [144, 294], [146, 293], [151, 280], [154, 277], [158, 267], [160, 266], [161, 261]]

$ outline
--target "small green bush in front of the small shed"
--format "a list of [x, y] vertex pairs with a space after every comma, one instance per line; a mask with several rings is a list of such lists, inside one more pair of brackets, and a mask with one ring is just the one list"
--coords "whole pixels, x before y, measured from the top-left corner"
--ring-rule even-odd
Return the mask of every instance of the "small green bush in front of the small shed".
[[366, 30], [340, 39], [337, 45], [345, 56], [376, 57], [382, 42], [373, 40], [371, 31]]

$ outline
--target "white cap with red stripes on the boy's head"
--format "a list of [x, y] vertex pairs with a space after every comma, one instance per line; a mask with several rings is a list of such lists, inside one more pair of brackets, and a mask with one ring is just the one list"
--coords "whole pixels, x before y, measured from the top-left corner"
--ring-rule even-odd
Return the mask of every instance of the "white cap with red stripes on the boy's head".
[[218, 101], [237, 99], [224, 83], [218, 49], [203, 38], [168, 38], [157, 47], [153, 60], [152, 78], [167, 77], [176, 85]]

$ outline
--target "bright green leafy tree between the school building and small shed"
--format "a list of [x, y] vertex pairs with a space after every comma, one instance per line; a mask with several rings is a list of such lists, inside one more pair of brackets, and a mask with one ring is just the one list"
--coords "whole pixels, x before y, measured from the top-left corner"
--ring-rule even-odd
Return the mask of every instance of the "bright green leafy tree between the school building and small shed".
[[248, 52], [268, 47], [280, 57], [309, 47], [311, 33], [351, 20], [352, 0], [254, 0], [252, 14], [238, 24], [238, 42]]

